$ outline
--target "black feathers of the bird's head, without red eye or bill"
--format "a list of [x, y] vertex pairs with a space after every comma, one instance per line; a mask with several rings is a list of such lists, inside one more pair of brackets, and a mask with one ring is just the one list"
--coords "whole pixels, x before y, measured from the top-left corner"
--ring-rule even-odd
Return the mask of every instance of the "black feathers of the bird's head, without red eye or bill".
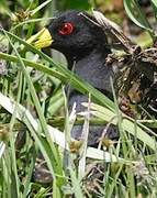
[[[87, 13], [86, 13], [87, 14]], [[71, 34], [61, 35], [59, 30], [65, 23], [74, 24]], [[54, 42], [52, 47], [64, 53], [71, 66], [71, 61], [81, 59], [87, 56], [94, 47], [99, 47], [104, 53], [110, 50], [106, 45], [106, 37], [103, 30], [92, 22], [88, 21], [79, 11], [67, 11], [59, 18], [54, 19], [48, 25], [49, 33]]]

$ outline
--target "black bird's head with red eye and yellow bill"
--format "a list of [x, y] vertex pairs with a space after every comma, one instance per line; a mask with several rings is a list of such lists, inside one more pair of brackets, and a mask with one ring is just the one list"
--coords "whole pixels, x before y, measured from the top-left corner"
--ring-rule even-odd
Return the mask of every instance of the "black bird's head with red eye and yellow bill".
[[49, 46], [66, 56], [82, 56], [97, 46], [105, 46], [104, 31], [91, 20], [94, 21], [86, 12], [67, 11], [43, 30], [35, 46]]

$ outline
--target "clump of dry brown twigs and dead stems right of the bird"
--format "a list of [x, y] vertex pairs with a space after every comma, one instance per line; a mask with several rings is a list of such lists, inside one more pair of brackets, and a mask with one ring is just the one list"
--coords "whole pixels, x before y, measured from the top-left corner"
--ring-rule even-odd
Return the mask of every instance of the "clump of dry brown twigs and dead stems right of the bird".
[[[134, 45], [121, 29], [100, 12], [93, 15], [113, 48], [123, 50], [123, 54], [110, 54], [109, 66], [115, 70], [115, 92], [121, 110], [137, 119], [157, 117], [157, 47], [142, 50]], [[96, 24], [96, 22], [94, 22]]]

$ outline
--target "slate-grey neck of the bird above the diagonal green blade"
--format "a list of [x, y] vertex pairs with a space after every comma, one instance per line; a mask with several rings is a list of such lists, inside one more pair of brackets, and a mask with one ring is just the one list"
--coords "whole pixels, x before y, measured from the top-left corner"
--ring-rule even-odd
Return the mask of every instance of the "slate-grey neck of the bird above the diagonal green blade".
[[110, 50], [96, 47], [81, 57], [69, 58], [69, 69], [97, 89], [111, 91], [110, 76], [113, 76], [113, 72], [105, 65], [105, 58], [110, 53]]

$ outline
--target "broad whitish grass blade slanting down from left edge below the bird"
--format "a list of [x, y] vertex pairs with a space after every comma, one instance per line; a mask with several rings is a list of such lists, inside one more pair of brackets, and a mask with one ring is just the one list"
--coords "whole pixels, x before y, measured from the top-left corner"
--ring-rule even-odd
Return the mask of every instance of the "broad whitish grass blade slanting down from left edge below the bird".
[[[5, 97], [4, 95], [2, 95], [0, 92], [0, 106], [2, 106], [7, 111], [9, 111], [12, 114], [14, 111], [14, 108], [15, 108], [15, 101], [11, 100], [10, 98]], [[32, 125], [33, 130], [37, 133], [37, 131], [38, 131], [37, 120], [35, 120], [33, 118], [33, 116], [30, 113], [30, 111], [26, 110], [20, 103], [18, 103], [16, 107], [18, 107], [18, 109], [16, 109], [15, 118], [18, 120], [22, 121], [25, 125], [27, 125], [27, 123], [30, 125]], [[51, 139], [56, 144], [58, 144], [60, 147], [67, 148], [67, 147], [65, 147], [65, 145], [66, 145], [65, 134], [61, 131], [59, 131], [58, 129], [55, 129], [51, 125], [47, 125], [47, 128], [48, 128], [48, 133], [49, 133]], [[34, 136], [34, 135], [35, 135], [35, 133], [32, 133], [32, 136]], [[34, 136], [34, 139], [37, 140], [35, 136]], [[71, 141], [74, 141], [74, 139], [71, 139]], [[38, 142], [38, 144], [43, 144], [43, 141], [37, 140], [37, 142]], [[3, 153], [3, 150], [4, 150], [3, 143], [0, 144], [0, 146], [1, 146], [0, 147], [1, 153]], [[43, 145], [43, 146], [45, 147], [45, 145]], [[105, 162], [117, 162], [117, 161], [126, 162], [123, 158], [120, 158], [120, 157], [117, 158], [115, 155], [111, 155], [109, 152], [97, 150], [94, 147], [88, 147], [86, 156], [89, 158], [94, 158], [94, 160], [100, 160], [100, 161], [105, 161]]]

